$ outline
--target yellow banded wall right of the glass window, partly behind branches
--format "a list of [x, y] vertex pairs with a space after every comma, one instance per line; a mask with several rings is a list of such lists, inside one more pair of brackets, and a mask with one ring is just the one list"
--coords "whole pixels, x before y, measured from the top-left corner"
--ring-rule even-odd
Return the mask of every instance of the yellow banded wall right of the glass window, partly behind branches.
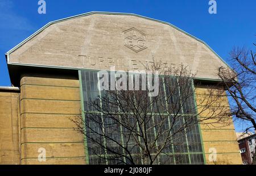
[[[223, 95], [224, 97], [221, 98], [220, 103], [225, 108], [225, 111], [229, 111], [229, 103], [228, 98], [225, 96], [225, 91]], [[207, 87], [196, 87], [196, 103], [198, 105], [200, 104], [198, 107], [199, 113], [205, 105], [202, 100], [208, 99], [209, 97], [212, 97], [212, 95], [209, 95]], [[212, 106], [216, 106], [216, 104], [218, 102], [213, 103]], [[200, 118], [208, 118], [212, 114], [210, 110], [207, 110], [200, 114]], [[213, 122], [214, 124], [210, 124]], [[207, 164], [242, 164], [232, 118], [226, 117], [218, 123], [215, 122], [216, 119], [207, 119], [200, 124]], [[212, 148], [216, 149], [216, 162], [209, 161], [209, 156], [213, 152]]]

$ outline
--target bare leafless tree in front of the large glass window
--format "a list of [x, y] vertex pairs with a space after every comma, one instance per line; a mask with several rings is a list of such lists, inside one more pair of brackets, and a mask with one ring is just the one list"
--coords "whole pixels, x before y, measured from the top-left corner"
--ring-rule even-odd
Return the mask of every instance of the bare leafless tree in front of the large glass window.
[[98, 164], [185, 164], [182, 153], [202, 150], [197, 125], [208, 124], [209, 119], [213, 125], [220, 123], [227, 114], [221, 105], [223, 89], [209, 86], [208, 96], [195, 103], [195, 75], [184, 65], [160, 69], [161, 65], [145, 65], [153, 77], [159, 74], [157, 96], [142, 89], [143, 75], [138, 74], [139, 82], [133, 79], [133, 85], [137, 83], [139, 90], [100, 91], [89, 100], [84, 117], [73, 120]]

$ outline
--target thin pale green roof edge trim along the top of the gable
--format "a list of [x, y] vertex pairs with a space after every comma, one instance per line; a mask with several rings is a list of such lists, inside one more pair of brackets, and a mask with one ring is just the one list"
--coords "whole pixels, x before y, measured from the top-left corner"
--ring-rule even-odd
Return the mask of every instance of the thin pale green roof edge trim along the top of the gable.
[[[104, 11], [91, 11], [91, 12], [86, 12], [84, 14], [80, 14], [80, 15], [75, 15], [75, 16], [70, 16], [68, 18], [63, 18], [63, 19], [59, 19], [59, 20], [54, 20], [52, 22], [47, 23], [45, 26], [43, 26], [42, 28], [40, 28], [38, 31], [36, 31], [35, 33], [33, 33], [31, 36], [27, 37], [27, 39], [23, 40], [21, 43], [19, 43], [18, 45], [16, 45], [14, 48], [10, 49], [10, 51], [6, 52], [6, 58], [7, 58], [7, 64], [10, 63], [9, 61], [9, 55], [14, 52], [16, 49], [18, 49], [19, 47], [21, 47], [23, 44], [25, 44], [28, 40], [30, 40], [32, 37], [38, 35], [38, 33], [42, 32], [45, 28], [51, 26], [52, 24], [55, 23], [59, 23], [59, 22], [63, 22], [65, 20], [69, 20], [69, 19], [73, 19], [73, 18], [79, 18], [81, 16], [88, 16], [88, 15], [93, 15], [93, 14], [104, 14], [104, 15], [131, 15], [131, 16], [137, 16], [139, 18], [144, 18], [147, 20], [152, 20], [154, 22], [158, 22], [158, 23], [163, 23], [163, 24], [167, 24], [173, 28], [175, 28], [176, 30], [185, 33], [185, 35], [188, 35], [190, 37], [192, 37], [193, 39], [196, 39], [197, 41], [200, 41], [201, 43], [203, 43], [207, 48], [210, 49], [210, 51], [212, 51], [214, 53], [214, 55], [216, 55], [222, 62], [224, 62], [224, 64], [226, 66], [228, 66], [228, 68], [232, 69], [216, 52], [213, 51], [212, 48], [209, 47], [209, 45], [207, 43], [205, 43], [203, 40], [198, 39], [197, 37], [191, 35], [188, 32], [185, 32], [183, 30], [181, 30], [180, 28], [174, 26], [171, 23], [167, 23], [167, 22], [163, 22], [162, 20], [157, 20], [157, 19], [153, 19], [153, 18], [148, 18], [146, 16], [142, 16], [142, 15], [137, 15], [137, 14], [133, 14], [133, 13], [126, 13], [126, 12], [104, 12]], [[233, 69], [232, 69], [233, 70]]]

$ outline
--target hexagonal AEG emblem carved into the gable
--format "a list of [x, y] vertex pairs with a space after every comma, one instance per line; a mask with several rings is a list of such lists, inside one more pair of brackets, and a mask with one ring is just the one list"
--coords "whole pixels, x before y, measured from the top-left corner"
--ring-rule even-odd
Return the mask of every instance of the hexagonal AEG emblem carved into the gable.
[[137, 30], [137, 28], [130, 28], [129, 30], [123, 31], [125, 39], [125, 46], [132, 49], [135, 52], [146, 49], [146, 35]]

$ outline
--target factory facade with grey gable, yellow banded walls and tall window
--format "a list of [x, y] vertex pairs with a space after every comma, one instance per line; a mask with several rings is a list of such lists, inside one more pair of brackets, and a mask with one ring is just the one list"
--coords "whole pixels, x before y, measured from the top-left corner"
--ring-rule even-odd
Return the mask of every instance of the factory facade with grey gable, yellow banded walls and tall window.
[[[228, 67], [196, 37], [135, 14], [89, 12], [48, 23], [6, 53], [13, 87], [0, 87], [0, 164], [106, 164], [90, 155], [71, 120], [100, 93], [98, 71], [142, 70], [152, 58], [163, 67], [185, 64], [203, 82], [191, 103], [208, 96], [203, 85], [220, 82], [218, 68]], [[223, 106], [229, 109], [226, 97]], [[186, 143], [195, 148], [183, 153], [182, 162], [168, 164], [242, 164], [228, 121], [196, 126]], [[42, 148], [46, 161], [38, 160]]]

